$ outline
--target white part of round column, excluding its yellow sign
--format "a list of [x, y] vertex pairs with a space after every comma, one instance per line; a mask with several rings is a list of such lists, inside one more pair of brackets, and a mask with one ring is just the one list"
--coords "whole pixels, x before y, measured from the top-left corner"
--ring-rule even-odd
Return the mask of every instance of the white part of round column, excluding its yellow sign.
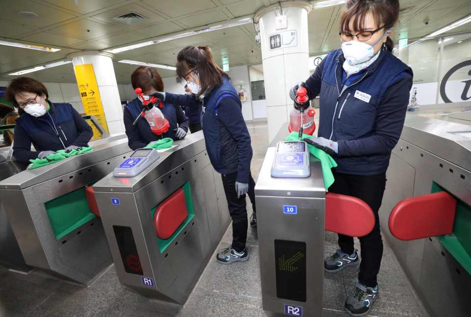
[[[125, 132], [123, 108], [113, 67], [113, 55], [104, 52], [86, 51], [69, 55], [76, 65], [92, 64], [98, 84], [98, 93], [103, 105], [109, 134]], [[78, 83], [79, 85], [79, 83]], [[80, 87], [79, 87], [80, 90]], [[84, 109], [85, 109], [85, 105]]]

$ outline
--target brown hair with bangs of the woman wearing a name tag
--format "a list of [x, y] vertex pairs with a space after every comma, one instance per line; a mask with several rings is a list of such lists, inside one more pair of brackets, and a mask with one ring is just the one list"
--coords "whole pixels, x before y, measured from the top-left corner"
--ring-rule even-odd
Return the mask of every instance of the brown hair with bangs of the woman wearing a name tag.
[[[346, 10], [340, 20], [340, 31], [351, 32], [349, 23], [353, 19], [353, 31], [362, 31], [368, 12], [374, 17], [378, 28], [384, 26], [384, 31], [391, 29], [399, 19], [399, 0], [348, 0]], [[392, 51], [394, 43], [391, 37], [386, 39], [386, 48]]]

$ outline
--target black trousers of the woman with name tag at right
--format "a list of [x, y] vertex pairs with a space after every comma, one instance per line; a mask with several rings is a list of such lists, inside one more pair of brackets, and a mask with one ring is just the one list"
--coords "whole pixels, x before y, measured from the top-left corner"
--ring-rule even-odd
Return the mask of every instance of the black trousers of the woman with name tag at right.
[[[376, 277], [383, 257], [383, 240], [379, 229], [378, 210], [383, 200], [386, 186], [386, 173], [377, 175], [351, 175], [334, 172], [335, 182], [329, 187], [329, 192], [357, 197], [366, 202], [374, 213], [373, 230], [360, 239], [361, 257], [358, 280], [367, 287], [375, 287]], [[342, 252], [354, 252], [353, 237], [339, 234], [339, 246]]]

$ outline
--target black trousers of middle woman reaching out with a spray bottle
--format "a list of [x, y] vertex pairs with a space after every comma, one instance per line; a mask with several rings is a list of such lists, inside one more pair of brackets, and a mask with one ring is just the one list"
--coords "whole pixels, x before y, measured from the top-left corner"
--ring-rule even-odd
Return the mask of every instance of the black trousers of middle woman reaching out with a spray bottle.
[[[232, 248], [237, 252], [242, 252], [245, 249], [245, 241], [247, 240], [247, 203], [245, 202], [245, 195], [237, 198], [235, 191], [235, 180], [237, 173], [221, 174], [222, 184], [224, 185], [224, 192], [226, 193], [227, 205], [229, 207], [229, 214], [232, 218]], [[249, 174], [249, 194], [250, 202], [255, 211], [255, 181], [252, 174]]]

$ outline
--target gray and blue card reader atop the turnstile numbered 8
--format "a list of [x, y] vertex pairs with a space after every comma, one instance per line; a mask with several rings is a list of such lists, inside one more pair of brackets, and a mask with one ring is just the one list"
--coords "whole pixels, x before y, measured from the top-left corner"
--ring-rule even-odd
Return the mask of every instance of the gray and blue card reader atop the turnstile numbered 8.
[[134, 177], [157, 161], [159, 157], [160, 154], [153, 148], [138, 148], [114, 169], [113, 176]]

